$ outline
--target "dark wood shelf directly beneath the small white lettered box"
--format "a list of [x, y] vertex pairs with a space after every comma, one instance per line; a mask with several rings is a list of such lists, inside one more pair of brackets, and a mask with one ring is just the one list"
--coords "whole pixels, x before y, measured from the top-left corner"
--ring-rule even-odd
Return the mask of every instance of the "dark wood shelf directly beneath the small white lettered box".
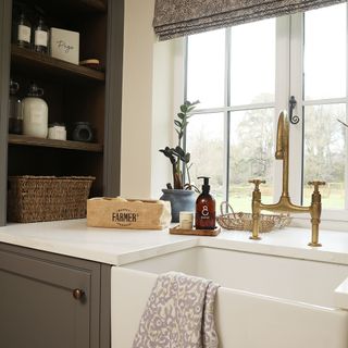
[[105, 74], [86, 66], [75, 65], [47, 54], [12, 45], [11, 64], [13, 70], [30, 71], [38, 75], [69, 77], [79, 80], [95, 80], [103, 83]]

